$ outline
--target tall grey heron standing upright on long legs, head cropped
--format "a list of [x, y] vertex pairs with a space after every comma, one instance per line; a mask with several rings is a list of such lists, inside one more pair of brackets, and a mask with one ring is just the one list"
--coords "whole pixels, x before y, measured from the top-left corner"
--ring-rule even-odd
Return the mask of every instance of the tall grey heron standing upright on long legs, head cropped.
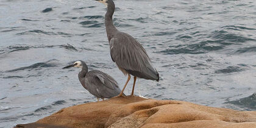
[[105, 13], [105, 28], [107, 31], [108, 43], [110, 44], [110, 55], [118, 68], [128, 75], [126, 84], [121, 93], [116, 97], [123, 96], [124, 89], [133, 76], [132, 94], [137, 77], [151, 80], [159, 80], [159, 74], [151, 64], [148, 54], [141, 44], [129, 34], [120, 32], [113, 25], [112, 16], [115, 12], [115, 3], [112, 0], [96, 0], [107, 5]]

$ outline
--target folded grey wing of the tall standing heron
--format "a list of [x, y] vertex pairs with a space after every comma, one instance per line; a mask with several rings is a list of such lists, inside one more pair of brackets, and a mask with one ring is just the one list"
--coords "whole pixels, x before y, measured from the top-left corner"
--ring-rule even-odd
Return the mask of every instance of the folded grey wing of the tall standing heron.
[[124, 69], [142, 72], [145, 66], [152, 68], [145, 49], [130, 35], [121, 34], [112, 38], [110, 40], [110, 55], [113, 62]]

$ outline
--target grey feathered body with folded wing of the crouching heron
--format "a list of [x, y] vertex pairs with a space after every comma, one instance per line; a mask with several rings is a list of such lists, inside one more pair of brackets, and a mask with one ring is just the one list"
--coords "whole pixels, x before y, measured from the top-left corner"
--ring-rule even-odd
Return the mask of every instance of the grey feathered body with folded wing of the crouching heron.
[[98, 70], [89, 71], [85, 76], [88, 91], [97, 98], [112, 98], [121, 93], [113, 77]]

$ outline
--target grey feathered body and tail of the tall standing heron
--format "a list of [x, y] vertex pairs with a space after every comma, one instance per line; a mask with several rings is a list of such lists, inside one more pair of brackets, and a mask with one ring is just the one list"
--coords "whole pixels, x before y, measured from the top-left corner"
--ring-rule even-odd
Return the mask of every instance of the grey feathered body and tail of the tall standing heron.
[[145, 49], [132, 36], [119, 32], [110, 40], [113, 62], [127, 73], [144, 79], [159, 80], [159, 74], [151, 64]]

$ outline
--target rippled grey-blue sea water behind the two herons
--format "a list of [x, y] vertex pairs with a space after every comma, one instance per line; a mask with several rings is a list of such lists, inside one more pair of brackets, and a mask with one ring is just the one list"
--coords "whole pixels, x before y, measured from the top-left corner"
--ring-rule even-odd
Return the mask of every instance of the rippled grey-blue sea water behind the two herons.
[[[255, 1], [115, 1], [115, 26], [137, 38], [160, 73], [135, 94], [256, 110]], [[112, 62], [105, 5], [85, 0], [0, 0], [0, 127], [31, 123], [63, 107], [95, 102], [79, 83], [90, 69], [126, 77]], [[132, 90], [132, 82], [125, 93]]]

